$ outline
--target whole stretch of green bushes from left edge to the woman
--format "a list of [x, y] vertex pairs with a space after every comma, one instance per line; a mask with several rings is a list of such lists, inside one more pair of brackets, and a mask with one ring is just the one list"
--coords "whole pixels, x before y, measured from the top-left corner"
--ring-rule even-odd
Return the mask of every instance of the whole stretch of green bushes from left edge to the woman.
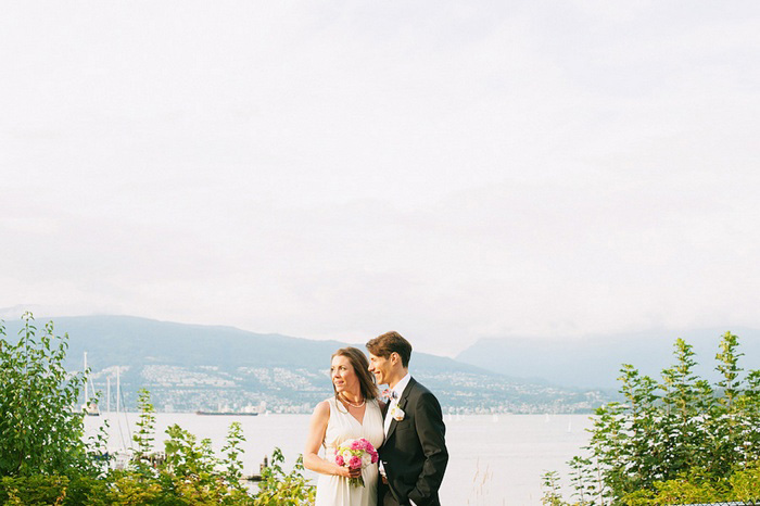
[[0, 324], [0, 504], [8, 505], [307, 505], [314, 488], [302, 459], [282, 469], [275, 448], [256, 493], [242, 483], [240, 423], [230, 426], [223, 456], [210, 440], [179, 426], [166, 430], [163, 460], [155, 464], [155, 415], [150, 393], [140, 391], [134, 458], [126, 470], [109, 470], [104, 437], [84, 440], [79, 402], [89, 371], [63, 368], [68, 336], [55, 337], [52, 321], [37, 337], [31, 314], [23, 317], [18, 340]]

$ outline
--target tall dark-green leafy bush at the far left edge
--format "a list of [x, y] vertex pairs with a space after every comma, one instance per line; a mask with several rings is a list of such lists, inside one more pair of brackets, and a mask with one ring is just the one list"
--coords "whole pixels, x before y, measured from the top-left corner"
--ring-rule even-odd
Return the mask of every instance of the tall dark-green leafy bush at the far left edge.
[[97, 472], [77, 407], [87, 371], [66, 372], [68, 336], [52, 321], [38, 332], [23, 320], [17, 340], [0, 324], [0, 477]]

